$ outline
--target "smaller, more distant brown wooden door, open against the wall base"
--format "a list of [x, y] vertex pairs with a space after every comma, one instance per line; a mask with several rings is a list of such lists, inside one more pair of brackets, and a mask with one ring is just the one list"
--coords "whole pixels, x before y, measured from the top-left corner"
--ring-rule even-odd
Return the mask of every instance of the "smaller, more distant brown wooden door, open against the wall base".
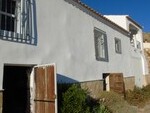
[[124, 94], [124, 80], [122, 73], [111, 73], [109, 75], [109, 87], [110, 91], [114, 91], [120, 94]]

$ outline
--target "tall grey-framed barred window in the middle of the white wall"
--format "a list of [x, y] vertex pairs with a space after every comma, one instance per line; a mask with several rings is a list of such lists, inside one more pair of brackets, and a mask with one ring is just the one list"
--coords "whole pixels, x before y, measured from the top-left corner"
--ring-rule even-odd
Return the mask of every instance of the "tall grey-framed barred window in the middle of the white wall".
[[104, 31], [94, 29], [96, 60], [108, 61], [107, 36]]

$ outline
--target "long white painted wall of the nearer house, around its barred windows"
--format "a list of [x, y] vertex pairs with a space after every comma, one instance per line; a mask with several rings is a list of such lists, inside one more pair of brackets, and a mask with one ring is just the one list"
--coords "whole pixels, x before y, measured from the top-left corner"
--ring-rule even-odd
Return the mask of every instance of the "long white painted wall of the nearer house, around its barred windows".
[[[64, 0], [37, 0], [37, 46], [0, 40], [0, 88], [4, 64], [48, 64], [55, 62], [59, 82], [102, 79], [103, 73], [142, 75], [140, 55], [129, 37], [94, 19]], [[96, 61], [94, 27], [107, 34], [109, 62]], [[122, 54], [115, 53], [114, 38], [120, 38]], [[138, 70], [138, 71], [137, 71]], [[61, 79], [60, 79], [61, 77]]]

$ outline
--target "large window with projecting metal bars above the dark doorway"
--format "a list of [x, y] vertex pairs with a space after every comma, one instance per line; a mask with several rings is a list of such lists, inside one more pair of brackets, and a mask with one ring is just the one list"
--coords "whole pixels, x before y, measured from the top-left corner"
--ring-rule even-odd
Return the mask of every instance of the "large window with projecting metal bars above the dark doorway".
[[30, 0], [0, 0], [0, 39], [35, 45], [37, 31], [33, 12], [35, 3]]

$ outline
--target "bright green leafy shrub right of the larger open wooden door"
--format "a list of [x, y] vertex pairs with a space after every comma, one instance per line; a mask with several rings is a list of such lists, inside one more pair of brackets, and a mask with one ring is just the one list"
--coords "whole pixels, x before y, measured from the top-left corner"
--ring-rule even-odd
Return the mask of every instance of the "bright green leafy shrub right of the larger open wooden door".
[[72, 85], [64, 94], [62, 102], [62, 113], [90, 113], [90, 108], [86, 104], [87, 91], [79, 85]]

